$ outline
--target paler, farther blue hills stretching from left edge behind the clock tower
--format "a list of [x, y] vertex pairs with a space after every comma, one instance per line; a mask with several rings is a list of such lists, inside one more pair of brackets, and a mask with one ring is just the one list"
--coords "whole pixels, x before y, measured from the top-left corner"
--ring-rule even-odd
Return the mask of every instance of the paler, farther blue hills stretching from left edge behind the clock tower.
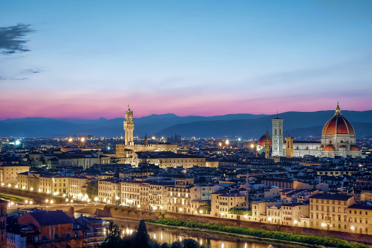
[[[209, 120], [256, 119], [266, 115], [234, 114], [222, 116], [177, 116], [174, 114], [150, 115], [134, 118], [134, 134], [144, 136], [180, 124]], [[94, 135], [116, 137], [124, 135], [124, 118], [97, 120], [57, 120], [33, 117], [0, 121], [0, 137], [58, 137], [58, 135]], [[174, 133], [173, 133], [174, 135]]]

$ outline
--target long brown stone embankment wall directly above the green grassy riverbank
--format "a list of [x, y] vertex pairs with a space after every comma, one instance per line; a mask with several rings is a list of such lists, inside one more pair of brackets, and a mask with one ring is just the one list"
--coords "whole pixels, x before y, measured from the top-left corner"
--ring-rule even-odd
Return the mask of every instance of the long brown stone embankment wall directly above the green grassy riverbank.
[[[227, 226], [241, 226], [241, 227], [251, 227], [251, 228], [263, 228], [271, 231], [278, 231], [278, 225], [269, 224], [269, 223], [260, 223], [252, 222], [245, 220], [234, 220], [234, 219], [225, 219], [225, 218], [216, 218], [209, 216], [199, 216], [199, 215], [187, 215], [182, 213], [169, 213], [164, 212], [164, 218], [169, 219], [181, 219], [181, 220], [190, 220], [203, 223], [215, 223]], [[351, 241], [363, 242], [365, 244], [372, 244], [372, 236], [359, 233], [349, 233], [349, 232], [337, 232], [331, 230], [323, 229], [313, 229], [313, 228], [304, 228], [300, 226], [285, 226], [279, 225], [280, 231], [282, 232], [292, 232], [306, 235], [314, 236], [329, 236], [334, 238], [347, 239]]]

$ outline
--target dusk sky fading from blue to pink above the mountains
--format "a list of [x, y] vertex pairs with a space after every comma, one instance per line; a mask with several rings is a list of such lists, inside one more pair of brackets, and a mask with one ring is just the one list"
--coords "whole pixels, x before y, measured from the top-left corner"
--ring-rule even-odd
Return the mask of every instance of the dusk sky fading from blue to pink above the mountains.
[[1, 1], [0, 120], [372, 109], [372, 1]]

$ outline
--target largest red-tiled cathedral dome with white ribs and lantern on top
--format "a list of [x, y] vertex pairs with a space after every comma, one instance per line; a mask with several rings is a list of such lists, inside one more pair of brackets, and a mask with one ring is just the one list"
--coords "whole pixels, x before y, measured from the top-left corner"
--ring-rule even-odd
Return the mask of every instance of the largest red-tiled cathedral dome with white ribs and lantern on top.
[[349, 134], [355, 135], [353, 126], [345, 117], [341, 115], [339, 103], [337, 103], [336, 113], [325, 123], [322, 135]]

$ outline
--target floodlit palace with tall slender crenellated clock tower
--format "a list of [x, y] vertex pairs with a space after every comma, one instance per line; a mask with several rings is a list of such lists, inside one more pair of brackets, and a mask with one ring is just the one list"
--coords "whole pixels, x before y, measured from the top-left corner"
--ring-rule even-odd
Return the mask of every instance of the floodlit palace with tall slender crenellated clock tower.
[[132, 152], [138, 151], [171, 151], [177, 153], [177, 144], [169, 143], [148, 144], [147, 134], [145, 135], [144, 144], [134, 144], [133, 111], [131, 111], [129, 105], [128, 110], [125, 111], [125, 120], [123, 127], [125, 132], [125, 143], [122, 145], [116, 145], [116, 157], [129, 157]]

